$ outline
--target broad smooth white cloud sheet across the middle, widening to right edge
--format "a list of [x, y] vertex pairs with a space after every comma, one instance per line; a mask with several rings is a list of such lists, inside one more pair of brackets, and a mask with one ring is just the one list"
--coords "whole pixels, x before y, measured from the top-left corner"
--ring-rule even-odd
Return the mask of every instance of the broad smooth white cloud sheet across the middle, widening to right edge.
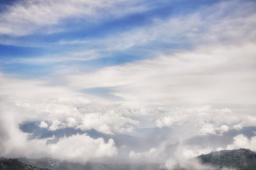
[[255, 53], [255, 44], [200, 47], [68, 79], [70, 86], [111, 87], [113, 95], [143, 104], [253, 105]]

